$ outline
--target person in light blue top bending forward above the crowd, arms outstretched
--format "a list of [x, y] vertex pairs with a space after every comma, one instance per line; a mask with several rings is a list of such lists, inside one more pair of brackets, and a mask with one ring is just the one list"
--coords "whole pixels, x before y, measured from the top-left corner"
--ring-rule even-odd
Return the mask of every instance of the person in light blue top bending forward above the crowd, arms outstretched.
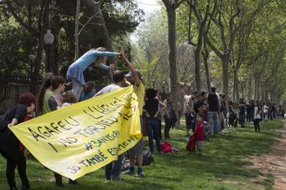
[[106, 66], [105, 63], [107, 56], [118, 56], [120, 53], [108, 52], [106, 48], [99, 47], [97, 49], [90, 49], [82, 57], [79, 57], [73, 64], [68, 67], [68, 73], [66, 77], [71, 79], [73, 83], [73, 93], [75, 97], [79, 100], [79, 97], [82, 93], [83, 86], [86, 84], [84, 81], [84, 70], [88, 68], [91, 64], [95, 63], [95, 66], [99, 66], [104, 70], [110, 70], [111, 67], [114, 67], [114, 64], [111, 67]]

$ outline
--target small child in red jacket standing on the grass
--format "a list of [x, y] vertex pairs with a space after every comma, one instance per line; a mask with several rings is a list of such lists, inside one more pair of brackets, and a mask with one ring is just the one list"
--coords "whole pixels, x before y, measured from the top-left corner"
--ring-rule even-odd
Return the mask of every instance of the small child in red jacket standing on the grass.
[[197, 147], [199, 150], [199, 155], [202, 155], [202, 145], [204, 143], [204, 115], [203, 113], [197, 113], [197, 124], [196, 124], [196, 130], [193, 133], [193, 136], [196, 137], [197, 140]]

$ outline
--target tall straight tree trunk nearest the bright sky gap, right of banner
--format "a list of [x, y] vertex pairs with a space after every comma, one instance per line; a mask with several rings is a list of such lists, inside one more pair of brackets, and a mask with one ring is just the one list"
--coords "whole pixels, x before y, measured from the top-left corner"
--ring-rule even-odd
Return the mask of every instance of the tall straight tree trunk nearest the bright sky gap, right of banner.
[[[168, 41], [169, 41], [169, 75], [171, 82], [171, 93], [173, 94], [172, 106], [178, 120], [178, 91], [177, 91], [177, 64], [176, 64], [176, 44], [175, 44], [175, 6], [167, 8], [168, 15]], [[177, 122], [179, 124], [179, 122]]]

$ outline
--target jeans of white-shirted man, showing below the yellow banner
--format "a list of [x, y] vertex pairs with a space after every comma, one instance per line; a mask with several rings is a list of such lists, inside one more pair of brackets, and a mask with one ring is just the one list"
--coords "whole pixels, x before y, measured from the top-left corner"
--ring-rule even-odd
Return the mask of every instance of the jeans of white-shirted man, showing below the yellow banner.
[[117, 160], [110, 162], [104, 167], [106, 180], [120, 179], [122, 161], [123, 155], [121, 154], [118, 155]]

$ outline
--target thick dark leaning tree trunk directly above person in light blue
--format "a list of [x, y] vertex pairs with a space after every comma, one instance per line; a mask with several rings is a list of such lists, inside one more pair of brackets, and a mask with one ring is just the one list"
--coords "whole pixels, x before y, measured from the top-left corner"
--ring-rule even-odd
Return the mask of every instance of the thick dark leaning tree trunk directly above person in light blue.
[[[94, 0], [83, 0], [83, 3], [85, 4], [86, 7], [90, 8], [90, 10], [93, 10], [95, 14], [99, 13], [94, 18], [96, 19], [94, 22], [99, 23], [97, 30], [99, 30], [99, 33], [101, 34], [101, 39], [102, 39], [101, 41], [99, 41], [99, 46], [104, 46], [108, 50], [111, 50], [111, 37], [109, 36], [108, 30], [106, 28], [106, 24], [104, 21], [104, 17], [102, 15], [100, 1], [95, 2]], [[93, 20], [91, 20], [91, 22], [93, 22]]]

